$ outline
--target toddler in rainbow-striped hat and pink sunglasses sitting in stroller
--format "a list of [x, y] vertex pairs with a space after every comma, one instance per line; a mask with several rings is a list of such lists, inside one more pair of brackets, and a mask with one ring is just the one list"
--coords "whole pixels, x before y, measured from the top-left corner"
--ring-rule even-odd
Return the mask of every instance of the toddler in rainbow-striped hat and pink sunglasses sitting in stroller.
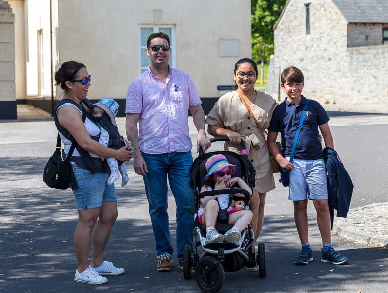
[[[207, 159], [206, 164], [207, 175], [203, 178], [203, 186], [201, 192], [229, 189], [233, 184], [237, 183], [240, 188], [243, 188], [252, 193], [250, 187], [240, 177], [231, 176], [238, 170], [236, 165], [229, 164], [224, 155], [214, 155]], [[241, 193], [236, 193], [234, 196], [243, 197]], [[198, 221], [206, 226], [206, 243], [215, 242], [231, 242], [237, 243], [241, 238], [241, 232], [246, 228], [252, 220], [252, 212], [249, 209], [240, 210], [233, 209], [229, 203], [229, 194], [210, 195], [201, 198], [201, 207], [198, 210]], [[227, 209], [226, 209], [227, 208]], [[214, 225], [216, 224], [218, 210], [226, 209], [229, 217], [228, 224], [233, 224], [232, 229], [224, 235], [217, 232]]]

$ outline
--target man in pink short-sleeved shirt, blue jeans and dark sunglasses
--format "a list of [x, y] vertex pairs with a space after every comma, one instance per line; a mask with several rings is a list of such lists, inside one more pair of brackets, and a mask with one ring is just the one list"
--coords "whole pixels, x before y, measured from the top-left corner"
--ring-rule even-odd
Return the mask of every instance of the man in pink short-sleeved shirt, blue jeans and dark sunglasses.
[[[151, 65], [132, 81], [126, 98], [126, 133], [135, 147], [133, 167], [143, 175], [156, 242], [157, 270], [171, 271], [172, 254], [167, 213], [167, 176], [177, 205], [177, 257], [182, 268], [183, 247], [192, 245], [194, 194], [189, 186], [191, 138], [188, 110], [198, 130], [197, 152], [210, 147], [201, 100], [190, 76], [171, 68], [170, 38], [163, 32], [147, 40]], [[137, 123], [139, 122], [139, 134]]]

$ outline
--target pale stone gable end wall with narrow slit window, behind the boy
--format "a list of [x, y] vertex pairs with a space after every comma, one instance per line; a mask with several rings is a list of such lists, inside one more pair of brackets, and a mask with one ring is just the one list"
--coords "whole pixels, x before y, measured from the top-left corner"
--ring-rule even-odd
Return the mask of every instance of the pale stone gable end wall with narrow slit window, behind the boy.
[[[275, 99], [279, 99], [279, 72], [290, 65], [302, 70], [304, 94], [316, 100], [334, 99], [335, 87], [345, 83], [342, 72], [329, 64], [347, 58], [347, 22], [331, 0], [311, 0], [310, 34], [306, 34], [305, 2], [290, 0], [274, 31], [274, 64], [265, 92]], [[280, 96], [283, 100], [284, 93]]]

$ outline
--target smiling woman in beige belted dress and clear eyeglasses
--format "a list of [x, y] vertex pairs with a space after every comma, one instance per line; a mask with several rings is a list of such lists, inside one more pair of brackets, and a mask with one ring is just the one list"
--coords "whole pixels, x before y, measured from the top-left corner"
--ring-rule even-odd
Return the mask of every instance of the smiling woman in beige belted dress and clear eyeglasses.
[[224, 144], [225, 150], [241, 154], [240, 141], [246, 143], [249, 159], [256, 170], [256, 186], [250, 201], [256, 239], [263, 227], [266, 193], [275, 188], [275, 181], [269, 150], [249, 109], [264, 131], [269, 127], [272, 112], [277, 106], [271, 96], [254, 89], [257, 76], [257, 65], [252, 59], [237, 61], [233, 72], [235, 90], [218, 99], [206, 119], [210, 135], [229, 137], [230, 141]]

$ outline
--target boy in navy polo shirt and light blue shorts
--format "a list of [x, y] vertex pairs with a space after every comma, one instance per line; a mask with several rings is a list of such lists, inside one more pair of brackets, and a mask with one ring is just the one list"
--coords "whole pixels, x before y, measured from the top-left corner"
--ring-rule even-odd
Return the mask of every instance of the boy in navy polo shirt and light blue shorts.
[[[311, 199], [317, 212], [317, 223], [323, 243], [321, 261], [341, 265], [347, 263], [348, 259], [331, 247], [327, 172], [318, 127], [325, 146], [334, 149], [334, 143], [328, 125], [329, 117], [325, 109], [314, 100], [309, 100], [294, 160], [292, 163], [289, 162], [296, 127], [299, 125], [303, 107], [307, 103], [306, 98], [301, 95], [304, 84], [303, 74], [298, 68], [290, 66], [283, 70], [280, 86], [287, 97], [272, 114], [267, 141], [279, 165], [290, 170], [288, 199], [294, 203], [295, 224], [302, 243], [302, 251], [296, 258], [295, 264], [306, 265], [313, 260], [312, 249], [308, 242], [307, 217], [307, 203], [308, 199]], [[278, 132], [282, 135], [282, 154], [279, 153], [275, 143]]]

